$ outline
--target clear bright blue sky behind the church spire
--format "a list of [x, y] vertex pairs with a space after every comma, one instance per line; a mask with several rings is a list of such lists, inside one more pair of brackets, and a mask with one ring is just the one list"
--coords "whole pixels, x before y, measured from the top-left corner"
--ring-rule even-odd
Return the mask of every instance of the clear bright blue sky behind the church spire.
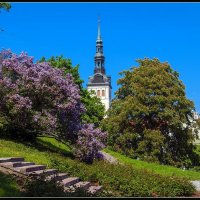
[[112, 97], [119, 72], [138, 58], [168, 61], [200, 112], [200, 3], [11, 3], [0, 13], [0, 48], [35, 61], [63, 55], [84, 80], [93, 74], [98, 16]]

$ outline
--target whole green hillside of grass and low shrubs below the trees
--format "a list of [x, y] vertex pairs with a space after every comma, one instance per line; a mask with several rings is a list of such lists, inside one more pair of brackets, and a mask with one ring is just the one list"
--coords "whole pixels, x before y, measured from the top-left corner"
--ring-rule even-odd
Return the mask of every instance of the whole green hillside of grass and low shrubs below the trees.
[[137, 161], [108, 149], [105, 151], [123, 165], [103, 161], [92, 165], [82, 163], [73, 157], [69, 146], [53, 138], [39, 137], [35, 143], [0, 139], [0, 157], [24, 157], [25, 161], [44, 164], [85, 181], [99, 182], [111, 196], [190, 196], [194, 188], [188, 180], [200, 180], [199, 172]]

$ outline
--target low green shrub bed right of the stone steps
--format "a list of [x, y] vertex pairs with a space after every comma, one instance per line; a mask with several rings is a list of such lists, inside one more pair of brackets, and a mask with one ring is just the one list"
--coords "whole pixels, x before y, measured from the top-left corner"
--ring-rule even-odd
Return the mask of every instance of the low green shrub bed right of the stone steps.
[[[93, 165], [68, 160], [52, 167], [103, 186], [99, 195], [113, 197], [180, 197], [191, 196], [194, 186], [185, 178], [164, 176], [131, 165], [95, 161]], [[81, 170], [80, 170], [81, 169]]]

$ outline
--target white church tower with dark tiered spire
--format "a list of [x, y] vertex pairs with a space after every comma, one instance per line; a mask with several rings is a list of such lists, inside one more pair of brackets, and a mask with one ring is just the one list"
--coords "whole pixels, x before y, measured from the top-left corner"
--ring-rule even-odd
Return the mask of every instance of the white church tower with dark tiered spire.
[[111, 103], [111, 77], [106, 76], [105, 57], [103, 55], [103, 40], [100, 32], [100, 19], [98, 20], [98, 35], [96, 40], [96, 54], [94, 57], [94, 75], [89, 77], [88, 91], [95, 91], [107, 111]]

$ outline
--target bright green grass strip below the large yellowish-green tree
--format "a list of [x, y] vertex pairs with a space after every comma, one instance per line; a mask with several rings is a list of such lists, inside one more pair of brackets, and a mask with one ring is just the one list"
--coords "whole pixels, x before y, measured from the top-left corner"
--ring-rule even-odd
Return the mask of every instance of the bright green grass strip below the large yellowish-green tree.
[[117, 158], [121, 163], [130, 164], [136, 169], [145, 169], [150, 172], [161, 174], [164, 176], [178, 176], [190, 180], [200, 180], [200, 172], [183, 170], [172, 166], [159, 165], [155, 163], [148, 163], [145, 161], [135, 160], [118, 152], [114, 152], [110, 149], [104, 149], [104, 151]]

